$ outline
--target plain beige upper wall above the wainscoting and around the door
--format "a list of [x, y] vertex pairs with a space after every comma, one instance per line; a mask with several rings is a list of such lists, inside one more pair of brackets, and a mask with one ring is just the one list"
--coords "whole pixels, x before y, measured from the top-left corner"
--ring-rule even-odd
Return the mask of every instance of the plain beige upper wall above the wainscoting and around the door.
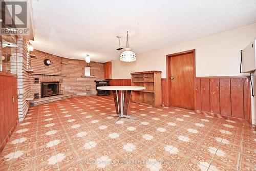
[[[166, 37], [172, 38], [172, 37]], [[166, 78], [166, 55], [196, 49], [196, 76], [240, 74], [240, 50], [256, 38], [256, 23], [137, 55], [137, 61], [112, 64], [112, 78], [131, 78], [131, 72], [160, 70]]]

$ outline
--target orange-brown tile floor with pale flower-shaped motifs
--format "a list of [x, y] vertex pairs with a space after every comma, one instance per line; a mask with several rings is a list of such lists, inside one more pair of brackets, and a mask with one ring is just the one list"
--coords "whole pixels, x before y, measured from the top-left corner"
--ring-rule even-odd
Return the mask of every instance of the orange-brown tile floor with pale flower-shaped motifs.
[[34, 106], [0, 170], [256, 170], [256, 129], [178, 108], [131, 103], [114, 124], [111, 96]]

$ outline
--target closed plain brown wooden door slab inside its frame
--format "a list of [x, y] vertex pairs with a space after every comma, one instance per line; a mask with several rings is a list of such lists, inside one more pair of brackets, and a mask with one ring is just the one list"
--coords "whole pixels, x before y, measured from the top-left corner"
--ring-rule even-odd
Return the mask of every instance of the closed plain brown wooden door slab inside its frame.
[[170, 105], [194, 110], [194, 53], [170, 57]]

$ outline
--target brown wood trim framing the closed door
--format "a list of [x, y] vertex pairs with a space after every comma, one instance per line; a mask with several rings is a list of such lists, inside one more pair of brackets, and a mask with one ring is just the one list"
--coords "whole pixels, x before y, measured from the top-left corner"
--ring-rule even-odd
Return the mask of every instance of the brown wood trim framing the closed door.
[[[166, 79], [167, 79], [167, 87], [166, 87], [166, 94], [167, 94], [167, 106], [170, 106], [171, 101], [170, 101], [170, 96], [171, 96], [171, 81], [170, 81], [170, 58], [174, 57], [174, 56], [179, 56], [179, 55], [185, 55], [188, 53], [193, 53], [193, 58], [194, 58], [194, 96], [196, 94], [196, 50], [192, 49], [192, 50], [188, 50], [188, 51], [183, 51], [183, 52], [178, 52], [178, 53], [173, 53], [173, 54], [168, 54], [166, 55]], [[196, 100], [194, 98], [194, 109], [196, 108]]]

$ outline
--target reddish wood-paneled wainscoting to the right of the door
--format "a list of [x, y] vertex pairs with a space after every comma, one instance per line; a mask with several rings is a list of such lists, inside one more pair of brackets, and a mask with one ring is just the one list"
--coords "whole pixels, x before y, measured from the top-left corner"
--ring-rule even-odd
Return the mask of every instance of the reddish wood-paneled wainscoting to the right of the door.
[[251, 123], [250, 80], [239, 77], [197, 77], [195, 111]]

